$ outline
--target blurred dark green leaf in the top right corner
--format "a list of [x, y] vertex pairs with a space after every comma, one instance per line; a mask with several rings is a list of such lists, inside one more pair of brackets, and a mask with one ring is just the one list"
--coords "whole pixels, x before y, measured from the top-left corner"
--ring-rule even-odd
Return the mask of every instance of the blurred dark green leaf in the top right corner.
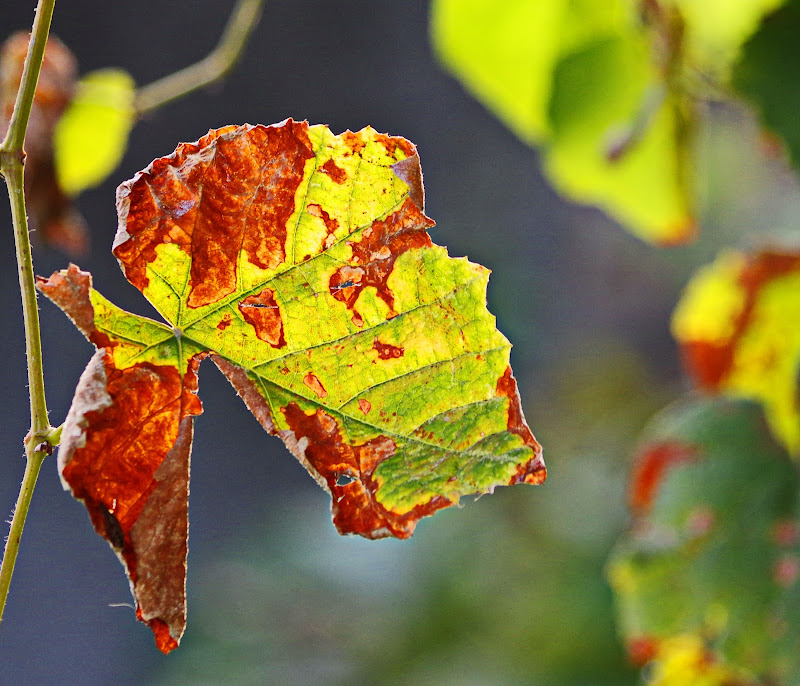
[[758, 109], [763, 124], [786, 142], [800, 164], [800, 2], [789, 0], [767, 17], [747, 42], [733, 74], [734, 86]]

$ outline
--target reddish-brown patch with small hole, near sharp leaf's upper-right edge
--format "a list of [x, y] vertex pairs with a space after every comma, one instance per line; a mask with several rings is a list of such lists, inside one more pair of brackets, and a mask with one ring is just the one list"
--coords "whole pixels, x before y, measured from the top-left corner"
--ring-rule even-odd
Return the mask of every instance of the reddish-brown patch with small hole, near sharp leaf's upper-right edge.
[[[389, 308], [387, 319], [397, 316], [394, 311], [394, 295], [386, 285], [389, 275], [395, 260], [404, 252], [430, 247], [431, 239], [427, 229], [433, 225], [433, 221], [407, 198], [397, 212], [393, 212], [385, 220], [376, 220], [365, 229], [360, 241], [348, 241], [353, 257], [349, 265], [340, 267], [331, 275], [331, 295], [353, 310], [361, 291], [367, 286], [373, 286], [378, 297]], [[375, 255], [379, 256], [378, 259], [374, 258]], [[355, 314], [357, 313], [354, 311]]]

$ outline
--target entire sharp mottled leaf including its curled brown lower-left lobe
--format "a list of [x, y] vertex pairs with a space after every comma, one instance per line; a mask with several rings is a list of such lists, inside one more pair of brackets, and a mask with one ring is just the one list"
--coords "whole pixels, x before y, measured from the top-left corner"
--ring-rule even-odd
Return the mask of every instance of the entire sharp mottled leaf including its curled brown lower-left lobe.
[[333, 500], [341, 533], [410, 536], [460, 496], [537, 484], [488, 270], [431, 243], [416, 149], [372, 129], [227, 127], [120, 186], [114, 254], [161, 324], [77, 267], [40, 289], [98, 348], [65, 486], [167, 652], [185, 623], [196, 369], [210, 355]]

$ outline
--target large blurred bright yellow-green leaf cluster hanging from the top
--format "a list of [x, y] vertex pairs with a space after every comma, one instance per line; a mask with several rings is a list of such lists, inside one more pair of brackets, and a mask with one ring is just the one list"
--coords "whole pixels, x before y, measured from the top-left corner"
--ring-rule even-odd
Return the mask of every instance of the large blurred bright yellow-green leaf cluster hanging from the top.
[[695, 101], [707, 82], [727, 85], [742, 43], [782, 1], [435, 0], [431, 33], [465, 87], [542, 147], [560, 192], [671, 244], [696, 231]]

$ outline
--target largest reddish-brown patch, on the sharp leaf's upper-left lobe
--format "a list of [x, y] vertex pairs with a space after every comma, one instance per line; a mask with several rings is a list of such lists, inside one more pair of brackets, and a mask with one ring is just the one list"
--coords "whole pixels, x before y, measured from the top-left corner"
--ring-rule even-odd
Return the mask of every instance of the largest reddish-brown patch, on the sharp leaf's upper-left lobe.
[[192, 257], [190, 307], [235, 290], [241, 250], [261, 269], [282, 264], [295, 192], [314, 156], [307, 131], [291, 119], [209, 131], [123, 183], [114, 255], [128, 280], [147, 286], [147, 265], [167, 237]]

